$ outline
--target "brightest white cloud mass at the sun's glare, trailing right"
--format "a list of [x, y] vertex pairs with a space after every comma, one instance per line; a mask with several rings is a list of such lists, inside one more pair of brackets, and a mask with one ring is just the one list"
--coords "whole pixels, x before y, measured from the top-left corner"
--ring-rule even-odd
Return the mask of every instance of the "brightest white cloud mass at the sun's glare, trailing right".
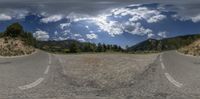
[[[98, 17], [79, 18], [78, 20], [91, 21], [99, 27], [98, 32], [105, 31], [112, 37], [123, 34], [124, 31], [141, 36], [152, 34], [153, 32], [151, 29], [144, 28], [139, 22], [127, 21], [126, 23], [120, 23], [118, 21], [107, 20], [107, 16], [101, 15]], [[90, 31], [90, 33], [94, 33], [94, 31]]]

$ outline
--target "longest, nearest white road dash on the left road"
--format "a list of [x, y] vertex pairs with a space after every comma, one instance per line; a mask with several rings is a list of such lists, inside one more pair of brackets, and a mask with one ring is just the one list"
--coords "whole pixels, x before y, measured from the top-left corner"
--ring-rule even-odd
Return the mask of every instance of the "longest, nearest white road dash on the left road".
[[37, 85], [39, 85], [43, 80], [44, 80], [44, 78], [39, 78], [33, 83], [30, 83], [30, 84], [24, 85], [24, 86], [19, 86], [18, 88], [21, 90], [30, 89], [30, 88], [33, 88], [33, 87], [36, 87]]

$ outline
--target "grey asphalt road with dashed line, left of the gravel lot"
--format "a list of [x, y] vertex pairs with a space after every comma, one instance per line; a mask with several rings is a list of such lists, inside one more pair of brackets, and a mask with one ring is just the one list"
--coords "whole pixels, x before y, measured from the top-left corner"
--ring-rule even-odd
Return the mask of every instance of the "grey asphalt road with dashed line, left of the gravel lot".
[[0, 58], [0, 99], [62, 97], [62, 90], [67, 87], [61, 70], [54, 55], [43, 51]]

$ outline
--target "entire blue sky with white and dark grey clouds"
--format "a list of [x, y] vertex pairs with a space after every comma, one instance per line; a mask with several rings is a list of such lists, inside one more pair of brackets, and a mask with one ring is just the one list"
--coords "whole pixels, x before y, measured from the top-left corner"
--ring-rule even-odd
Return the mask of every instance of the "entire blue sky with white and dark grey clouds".
[[134, 45], [200, 33], [199, 0], [0, 0], [0, 31], [20, 22], [38, 40]]

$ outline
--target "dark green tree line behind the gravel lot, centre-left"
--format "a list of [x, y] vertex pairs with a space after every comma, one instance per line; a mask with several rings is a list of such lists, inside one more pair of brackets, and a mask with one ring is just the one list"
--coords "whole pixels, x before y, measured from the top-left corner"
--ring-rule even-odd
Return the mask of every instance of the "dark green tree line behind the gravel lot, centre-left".
[[94, 44], [76, 40], [38, 41], [37, 48], [53, 53], [124, 52], [118, 45]]

